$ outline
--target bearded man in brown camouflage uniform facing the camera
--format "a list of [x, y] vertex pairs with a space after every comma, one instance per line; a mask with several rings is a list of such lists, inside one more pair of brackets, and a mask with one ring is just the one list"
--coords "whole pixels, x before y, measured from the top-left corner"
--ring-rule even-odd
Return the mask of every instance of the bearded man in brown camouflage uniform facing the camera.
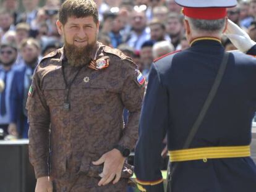
[[64, 48], [36, 67], [27, 101], [36, 192], [126, 191], [122, 175], [131, 170], [123, 164], [137, 140], [145, 78], [129, 57], [96, 41], [92, 0], [65, 1], [56, 24]]

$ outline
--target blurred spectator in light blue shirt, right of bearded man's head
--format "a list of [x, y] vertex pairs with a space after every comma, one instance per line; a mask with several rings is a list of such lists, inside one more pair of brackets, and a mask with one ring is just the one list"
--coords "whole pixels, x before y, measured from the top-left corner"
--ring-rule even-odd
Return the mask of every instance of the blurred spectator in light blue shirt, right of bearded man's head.
[[147, 28], [147, 17], [144, 11], [133, 10], [130, 25], [132, 31], [127, 39], [127, 44], [135, 50], [140, 50], [142, 44], [150, 39], [150, 29]]

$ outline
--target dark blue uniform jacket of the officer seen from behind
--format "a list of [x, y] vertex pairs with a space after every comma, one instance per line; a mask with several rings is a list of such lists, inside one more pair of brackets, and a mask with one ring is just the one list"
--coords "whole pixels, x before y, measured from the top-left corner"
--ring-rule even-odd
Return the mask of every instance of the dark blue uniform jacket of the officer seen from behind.
[[[163, 191], [161, 146], [182, 149], [215, 80], [224, 48], [218, 40], [195, 41], [152, 67], [135, 149], [135, 174], [147, 191]], [[256, 55], [256, 46], [248, 54]], [[190, 148], [244, 146], [251, 142], [256, 109], [256, 59], [229, 55], [223, 81]], [[255, 192], [256, 166], [250, 157], [174, 162], [172, 192]], [[155, 185], [155, 183], [158, 183]]]

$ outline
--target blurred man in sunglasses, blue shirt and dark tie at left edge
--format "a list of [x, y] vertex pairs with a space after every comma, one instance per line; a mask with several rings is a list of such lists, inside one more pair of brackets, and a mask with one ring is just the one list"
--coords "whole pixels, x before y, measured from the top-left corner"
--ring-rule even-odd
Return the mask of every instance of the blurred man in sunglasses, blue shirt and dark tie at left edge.
[[[17, 46], [14, 43], [0, 45], [0, 128], [7, 135], [11, 122], [11, 86], [14, 78], [14, 63], [17, 57]], [[13, 135], [17, 135], [15, 132]]]

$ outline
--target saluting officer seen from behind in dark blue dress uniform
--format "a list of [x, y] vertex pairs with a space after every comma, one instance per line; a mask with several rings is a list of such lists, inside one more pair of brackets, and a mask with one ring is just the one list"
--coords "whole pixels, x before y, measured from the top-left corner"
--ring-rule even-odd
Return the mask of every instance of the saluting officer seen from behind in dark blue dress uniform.
[[[163, 191], [160, 160], [167, 133], [171, 161], [168, 190], [255, 191], [256, 166], [249, 145], [256, 109], [256, 59], [242, 52], [227, 54], [220, 41], [227, 26], [226, 7], [237, 2], [176, 2], [184, 7], [190, 48], [161, 57], [151, 67], [135, 149], [139, 189]], [[229, 29], [231, 41], [241, 44], [246, 38], [232, 29], [234, 26]], [[255, 54], [255, 42], [246, 43], [240, 45], [241, 51], [252, 48], [248, 53]], [[217, 78], [219, 71], [222, 80], [221, 75]], [[217, 89], [213, 85], [218, 85]], [[213, 99], [207, 99], [208, 94]], [[208, 110], [202, 112], [210, 100]], [[194, 136], [191, 130], [196, 130]]]

